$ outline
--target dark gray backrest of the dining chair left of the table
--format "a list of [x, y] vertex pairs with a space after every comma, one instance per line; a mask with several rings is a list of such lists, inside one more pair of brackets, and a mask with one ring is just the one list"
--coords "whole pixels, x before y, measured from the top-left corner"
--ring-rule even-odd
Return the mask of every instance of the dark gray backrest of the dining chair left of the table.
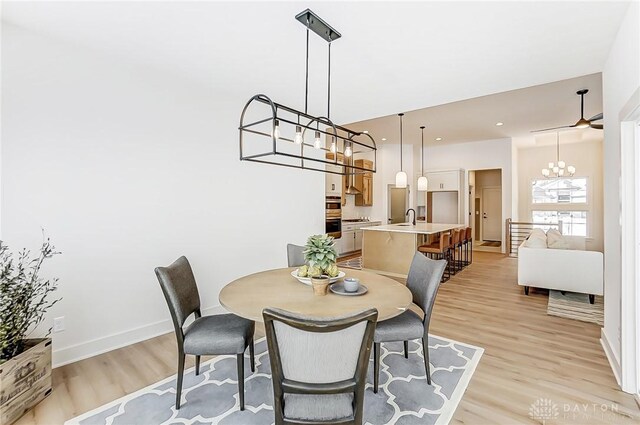
[[155, 272], [176, 332], [181, 331], [187, 317], [192, 313], [200, 315], [200, 294], [189, 260], [182, 256], [170, 266], [156, 267]]

